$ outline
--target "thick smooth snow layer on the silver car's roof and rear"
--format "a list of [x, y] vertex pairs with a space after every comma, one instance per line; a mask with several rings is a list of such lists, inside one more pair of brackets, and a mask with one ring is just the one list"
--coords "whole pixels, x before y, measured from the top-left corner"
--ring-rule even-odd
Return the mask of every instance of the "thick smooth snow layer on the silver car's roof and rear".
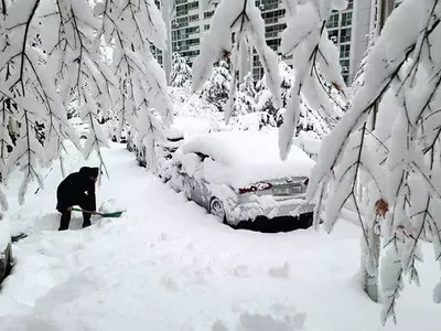
[[262, 180], [308, 177], [315, 163], [295, 146], [292, 146], [287, 160], [282, 161], [277, 132], [222, 131], [197, 135], [187, 139], [181, 151], [211, 157], [214, 161], [204, 162], [205, 179], [235, 188]]

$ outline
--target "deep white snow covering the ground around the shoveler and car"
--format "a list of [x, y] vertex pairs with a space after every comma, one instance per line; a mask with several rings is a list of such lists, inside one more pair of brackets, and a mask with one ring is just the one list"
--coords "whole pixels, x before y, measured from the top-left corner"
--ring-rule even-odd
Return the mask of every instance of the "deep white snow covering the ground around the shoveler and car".
[[[356, 226], [341, 222], [331, 235], [234, 231], [139, 168], [123, 146], [104, 152], [110, 180], [103, 179], [97, 200], [115, 199], [127, 209], [121, 218], [78, 231], [77, 214], [72, 231], [54, 231], [56, 169], [24, 206], [10, 199], [12, 232], [32, 234], [13, 246], [0, 330], [439, 330], [439, 271], [429, 246], [422, 286], [405, 289], [398, 328], [383, 328], [380, 306], [355, 275]], [[69, 170], [85, 164], [93, 162], [74, 157]]]

